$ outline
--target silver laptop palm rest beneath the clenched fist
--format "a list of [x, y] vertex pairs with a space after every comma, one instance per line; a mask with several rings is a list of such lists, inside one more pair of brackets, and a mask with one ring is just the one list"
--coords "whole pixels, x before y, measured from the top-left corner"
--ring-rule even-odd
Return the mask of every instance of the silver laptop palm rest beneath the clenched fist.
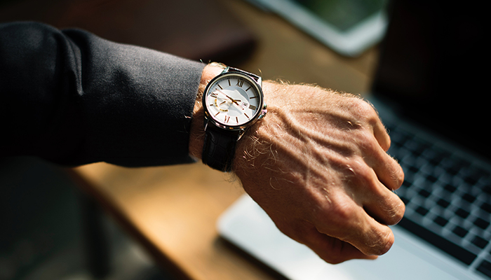
[[281, 233], [267, 214], [243, 195], [217, 223], [220, 235], [292, 280], [311, 279], [478, 279], [439, 251], [393, 227], [396, 242], [377, 260], [349, 260], [330, 265], [307, 246]]

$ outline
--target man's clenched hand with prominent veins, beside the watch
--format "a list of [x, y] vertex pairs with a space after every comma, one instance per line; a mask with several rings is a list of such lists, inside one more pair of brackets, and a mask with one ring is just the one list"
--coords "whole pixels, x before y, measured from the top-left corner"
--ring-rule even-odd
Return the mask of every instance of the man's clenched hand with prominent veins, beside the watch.
[[264, 82], [263, 92], [267, 116], [238, 141], [234, 159], [245, 191], [327, 262], [386, 253], [394, 242], [387, 225], [404, 214], [392, 192], [403, 172], [386, 154], [389, 135], [372, 106], [309, 85]]

